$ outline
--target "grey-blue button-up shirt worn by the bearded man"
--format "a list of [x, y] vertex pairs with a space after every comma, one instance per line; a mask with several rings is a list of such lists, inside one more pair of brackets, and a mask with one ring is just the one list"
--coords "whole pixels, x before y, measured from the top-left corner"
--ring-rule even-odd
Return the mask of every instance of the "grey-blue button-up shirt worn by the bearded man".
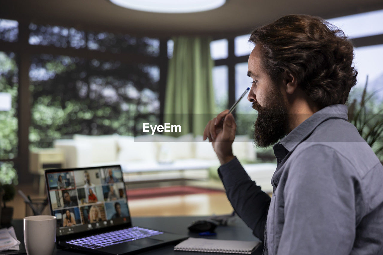
[[273, 149], [271, 199], [236, 158], [218, 169], [264, 254], [383, 254], [383, 166], [347, 106], [316, 112]]

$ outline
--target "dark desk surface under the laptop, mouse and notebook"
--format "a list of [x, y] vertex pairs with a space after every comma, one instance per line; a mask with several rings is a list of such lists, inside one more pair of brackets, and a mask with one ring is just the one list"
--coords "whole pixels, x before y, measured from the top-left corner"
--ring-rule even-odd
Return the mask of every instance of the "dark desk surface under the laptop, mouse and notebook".
[[[181, 235], [190, 235], [191, 237], [200, 237], [198, 234], [189, 233], [187, 226], [197, 219], [204, 219], [207, 217], [133, 217], [132, 222], [134, 225], [142, 227], [151, 227], [154, 229], [160, 229], [168, 232], [173, 232]], [[20, 240], [21, 245], [24, 244], [23, 239], [23, 220], [14, 220], [13, 227], [15, 227], [17, 238]], [[244, 222], [236, 217], [229, 226], [218, 226], [216, 228], [216, 236], [209, 236], [205, 238], [210, 239], [223, 239], [223, 240], [243, 240], [243, 241], [254, 241], [255, 237], [252, 234], [252, 231], [244, 224]], [[154, 250], [149, 250], [142, 252], [140, 254], [144, 255], [167, 255], [167, 254], [177, 254], [177, 255], [188, 255], [188, 254], [205, 254], [201, 252], [182, 252], [182, 251], [173, 251], [175, 244], [165, 245]], [[24, 247], [22, 247], [23, 250]], [[261, 244], [257, 250], [252, 253], [253, 255], [262, 254], [263, 245]], [[0, 253], [1, 254], [1, 253]], [[83, 253], [69, 252], [63, 250], [56, 250], [54, 253], [56, 255], [80, 255]], [[228, 254], [228, 253], [211, 253], [211, 254]]]

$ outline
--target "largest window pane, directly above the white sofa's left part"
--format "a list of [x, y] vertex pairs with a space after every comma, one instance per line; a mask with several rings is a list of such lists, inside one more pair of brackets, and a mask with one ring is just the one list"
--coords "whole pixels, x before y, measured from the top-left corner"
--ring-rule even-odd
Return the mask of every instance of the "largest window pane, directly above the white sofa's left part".
[[133, 135], [136, 116], [157, 124], [159, 74], [156, 65], [34, 56], [31, 148], [52, 147], [73, 134]]

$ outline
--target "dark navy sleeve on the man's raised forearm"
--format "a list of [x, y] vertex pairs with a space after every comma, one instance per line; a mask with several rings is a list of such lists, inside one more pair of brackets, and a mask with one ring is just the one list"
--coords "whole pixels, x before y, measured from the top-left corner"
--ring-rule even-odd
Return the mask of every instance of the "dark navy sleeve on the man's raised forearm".
[[250, 179], [236, 157], [221, 165], [218, 174], [238, 216], [263, 241], [270, 196]]

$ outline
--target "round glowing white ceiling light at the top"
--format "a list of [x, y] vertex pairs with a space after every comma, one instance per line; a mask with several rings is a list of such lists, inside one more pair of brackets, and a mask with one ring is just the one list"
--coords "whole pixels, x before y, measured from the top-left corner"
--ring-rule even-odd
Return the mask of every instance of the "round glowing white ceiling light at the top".
[[189, 13], [221, 7], [226, 0], [110, 0], [124, 8], [159, 13]]

